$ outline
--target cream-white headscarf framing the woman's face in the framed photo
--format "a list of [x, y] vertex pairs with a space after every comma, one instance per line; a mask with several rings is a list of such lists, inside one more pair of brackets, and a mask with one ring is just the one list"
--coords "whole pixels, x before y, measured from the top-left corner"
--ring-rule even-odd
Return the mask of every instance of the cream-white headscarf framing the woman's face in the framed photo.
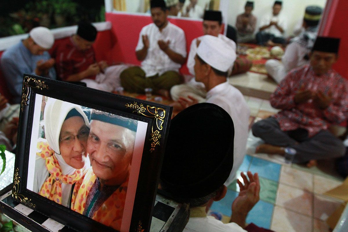
[[76, 109], [81, 117], [84, 119], [86, 126], [89, 127], [89, 121], [86, 114], [82, 111], [81, 106], [63, 102], [62, 100], [49, 98], [45, 106], [44, 120], [45, 120], [45, 136], [49, 146], [57, 154], [60, 154], [59, 149], [59, 135], [66, 115], [72, 110]]

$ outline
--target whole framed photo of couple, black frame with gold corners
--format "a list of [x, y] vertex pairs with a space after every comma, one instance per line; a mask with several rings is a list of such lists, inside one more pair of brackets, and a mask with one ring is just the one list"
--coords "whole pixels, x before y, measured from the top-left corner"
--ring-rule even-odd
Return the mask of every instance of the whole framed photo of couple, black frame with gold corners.
[[78, 231], [149, 231], [171, 113], [25, 74], [12, 197]]

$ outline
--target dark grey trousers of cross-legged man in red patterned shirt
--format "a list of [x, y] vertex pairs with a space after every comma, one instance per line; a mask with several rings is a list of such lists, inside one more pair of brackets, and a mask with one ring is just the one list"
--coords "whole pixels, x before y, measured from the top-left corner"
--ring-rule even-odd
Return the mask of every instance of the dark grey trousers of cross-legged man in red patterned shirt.
[[277, 120], [272, 117], [254, 123], [252, 132], [268, 144], [294, 148], [294, 163], [338, 158], [346, 152], [342, 141], [327, 130], [321, 130], [309, 138], [305, 129], [282, 131]]

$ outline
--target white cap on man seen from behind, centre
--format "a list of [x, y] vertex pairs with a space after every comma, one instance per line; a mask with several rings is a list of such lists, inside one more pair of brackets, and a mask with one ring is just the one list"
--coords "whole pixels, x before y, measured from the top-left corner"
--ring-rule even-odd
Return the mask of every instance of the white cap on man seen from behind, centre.
[[212, 35], [201, 37], [197, 55], [214, 69], [227, 72], [236, 60], [236, 52], [225, 41]]

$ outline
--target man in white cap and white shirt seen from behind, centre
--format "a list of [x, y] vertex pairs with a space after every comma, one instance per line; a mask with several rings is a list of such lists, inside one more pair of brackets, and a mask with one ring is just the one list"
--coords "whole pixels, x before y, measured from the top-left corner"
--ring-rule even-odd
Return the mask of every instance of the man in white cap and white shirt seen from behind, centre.
[[[227, 71], [234, 62], [235, 51], [226, 43], [212, 35], [204, 35], [197, 49], [195, 56], [195, 79], [205, 86], [207, 91], [206, 102], [216, 104], [226, 110], [234, 121], [235, 130], [238, 136], [235, 137], [234, 166], [226, 185], [235, 179], [237, 169], [242, 164], [248, 137], [248, 121], [250, 110], [245, 99], [238, 89], [227, 82]], [[190, 97], [192, 101], [180, 98], [179, 108], [187, 108], [198, 101]], [[178, 106], [174, 106], [178, 111]], [[180, 110], [180, 109], [179, 109]]]

